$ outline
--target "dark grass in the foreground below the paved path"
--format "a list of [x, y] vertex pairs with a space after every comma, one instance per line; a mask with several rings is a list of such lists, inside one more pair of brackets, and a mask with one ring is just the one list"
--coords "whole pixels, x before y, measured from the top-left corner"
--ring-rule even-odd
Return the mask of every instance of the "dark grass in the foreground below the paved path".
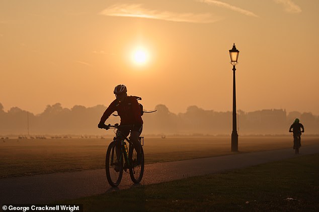
[[319, 211], [319, 154], [59, 203], [84, 211]]

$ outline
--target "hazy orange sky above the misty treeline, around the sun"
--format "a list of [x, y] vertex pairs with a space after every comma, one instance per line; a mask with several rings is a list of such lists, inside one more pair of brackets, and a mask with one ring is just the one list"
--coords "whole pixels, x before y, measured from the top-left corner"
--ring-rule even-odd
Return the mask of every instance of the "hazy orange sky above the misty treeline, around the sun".
[[[171, 112], [232, 110], [228, 50], [240, 50], [237, 109], [319, 115], [319, 1], [2, 1], [0, 103], [108, 105], [117, 84]], [[131, 52], [149, 53], [136, 65]]]

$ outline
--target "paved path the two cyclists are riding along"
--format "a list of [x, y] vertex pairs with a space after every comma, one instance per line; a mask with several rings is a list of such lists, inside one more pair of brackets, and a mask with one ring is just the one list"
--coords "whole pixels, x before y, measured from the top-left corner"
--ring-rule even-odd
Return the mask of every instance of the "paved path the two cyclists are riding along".
[[[299, 155], [295, 155], [290, 148], [149, 164], [145, 166], [141, 184], [216, 173], [313, 153], [319, 153], [319, 145], [303, 146]], [[122, 182], [116, 189], [132, 186], [134, 184], [129, 174], [124, 172]], [[55, 200], [101, 194], [110, 190], [114, 188], [108, 185], [104, 169], [0, 179], [0, 205], [4, 203], [49, 203]]]

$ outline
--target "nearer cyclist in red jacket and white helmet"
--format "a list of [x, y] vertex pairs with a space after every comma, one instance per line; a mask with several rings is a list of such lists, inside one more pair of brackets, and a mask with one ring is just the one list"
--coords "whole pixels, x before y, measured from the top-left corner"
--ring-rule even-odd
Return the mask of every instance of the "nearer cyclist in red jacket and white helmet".
[[[139, 143], [138, 138], [142, 133], [143, 120], [141, 117], [139, 104], [135, 96], [127, 95], [127, 88], [123, 84], [119, 84], [114, 88], [114, 94], [116, 98], [105, 110], [103, 116], [101, 117], [100, 123], [98, 124], [98, 128], [108, 129], [107, 125], [105, 125], [105, 121], [111, 116], [112, 113], [117, 111], [117, 114], [121, 118], [120, 126], [131, 126], [122, 128], [121, 132], [126, 137], [129, 133], [131, 133], [129, 139], [132, 141], [134, 149], [137, 153], [137, 164], [140, 164], [142, 155], [141, 144]], [[120, 153], [121, 143], [118, 142], [116, 147], [116, 152]]]

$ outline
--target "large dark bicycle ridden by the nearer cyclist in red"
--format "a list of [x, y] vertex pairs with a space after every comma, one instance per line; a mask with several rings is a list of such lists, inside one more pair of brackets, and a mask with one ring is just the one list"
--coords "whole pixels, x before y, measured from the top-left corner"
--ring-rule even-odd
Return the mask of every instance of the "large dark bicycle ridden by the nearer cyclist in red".
[[[144, 145], [144, 137], [139, 137], [138, 139], [141, 144], [141, 156], [142, 156], [140, 163], [138, 163], [137, 153], [133, 143], [121, 132], [121, 128], [129, 127], [129, 126], [120, 126], [119, 124], [115, 124], [115, 125], [107, 125], [107, 127], [108, 129], [114, 128], [115, 129], [114, 132], [116, 131], [115, 132], [116, 136], [113, 138], [113, 141], [110, 143], [106, 151], [105, 172], [106, 172], [107, 181], [113, 187], [118, 186], [122, 180], [123, 170], [128, 173], [127, 171], [128, 169], [131, 180], [134, 183], [139, 183], [142, 180], [143, 173], [144, 173], [144, 152], [142, 148], [142, 146]], [[128, 148], [125, 141], [129, 143]], [[121, 148], [117, 149], [116, 145], [119, 145], [119, 144]]]

